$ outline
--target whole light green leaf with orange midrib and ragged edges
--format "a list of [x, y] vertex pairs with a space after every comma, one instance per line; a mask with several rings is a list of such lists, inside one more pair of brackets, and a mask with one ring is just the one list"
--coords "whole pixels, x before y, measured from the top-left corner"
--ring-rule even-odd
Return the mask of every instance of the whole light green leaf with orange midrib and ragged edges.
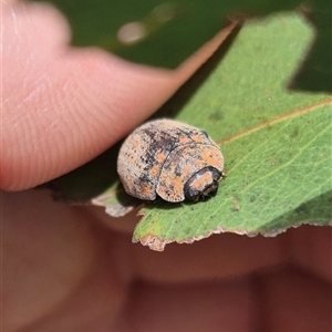
[[227, 178], [207, 203], [147, 205], [134, 242], [163, 250], [222, 231], [272, 236], [331, 221], [331, 97], [282, 87], [311, 38], [297, 15], [252, 22], [186, 103], [209, 64], [167, 103], [185, 104], [175, 117], [220, 143]]

